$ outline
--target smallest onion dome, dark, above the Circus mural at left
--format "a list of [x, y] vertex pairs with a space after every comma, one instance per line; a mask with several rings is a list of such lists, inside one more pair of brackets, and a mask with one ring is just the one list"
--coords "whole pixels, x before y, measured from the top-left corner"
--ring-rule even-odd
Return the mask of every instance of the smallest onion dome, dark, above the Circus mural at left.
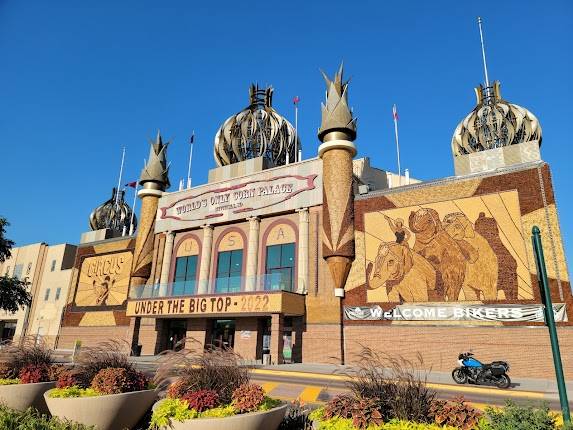
[[[92, 230], [108, 228], [118, 233], [122, 233], [125, 227], [126, 230], [129, 231], [132, 210], [125, 202], [124, 197], [125, 191], [120, 191], [118, 195], [117, 189], [114, 187], [111, 198], [95, 208], [90, 214], [90, 228]], [[134, 215], [134, 231], [136, 226], [137, 218]]]

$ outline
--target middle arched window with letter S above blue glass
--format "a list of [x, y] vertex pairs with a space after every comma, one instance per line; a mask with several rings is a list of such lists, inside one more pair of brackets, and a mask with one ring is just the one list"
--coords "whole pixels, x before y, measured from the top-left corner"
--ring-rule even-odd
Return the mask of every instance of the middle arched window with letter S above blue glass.
[[225, 233], [218, 241], [215, 293], [241, 291], [245, 240], [238, 230]]

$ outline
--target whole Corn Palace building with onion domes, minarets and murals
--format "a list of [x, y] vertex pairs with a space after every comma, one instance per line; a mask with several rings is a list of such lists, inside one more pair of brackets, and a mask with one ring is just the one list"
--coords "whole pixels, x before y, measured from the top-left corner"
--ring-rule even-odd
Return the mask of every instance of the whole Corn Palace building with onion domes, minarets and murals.
[[78, 247], [59, 347], [125, 339], [134, 353], [233, 348], [253, 362], [352, 363], [362, 346], [449, 371], [472, 349], [515, 376], [553, 375], [531, 229], [540, 227], [565, 371], [573, 300], [541, 126], [476, 89], [455, 128], [455, 175], [420, 182], [357, 156], [342, 69], [326, 77], [316, 157], [251, 87], [217, 131], [207, 184], [167, 191], [157, 136], [139, 181], [94, 211]]

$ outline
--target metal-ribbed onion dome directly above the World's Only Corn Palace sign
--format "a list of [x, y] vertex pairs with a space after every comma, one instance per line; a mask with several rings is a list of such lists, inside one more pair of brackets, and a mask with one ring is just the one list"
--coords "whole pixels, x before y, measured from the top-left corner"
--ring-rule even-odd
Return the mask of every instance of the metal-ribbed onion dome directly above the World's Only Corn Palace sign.
[[274, 166], [296, 160], [299, 148], [295, 128], [272, 107], [273, 88], [251, 85], [250, 104], [228, 118], [215, 135], [219, 166], [265, 157]]

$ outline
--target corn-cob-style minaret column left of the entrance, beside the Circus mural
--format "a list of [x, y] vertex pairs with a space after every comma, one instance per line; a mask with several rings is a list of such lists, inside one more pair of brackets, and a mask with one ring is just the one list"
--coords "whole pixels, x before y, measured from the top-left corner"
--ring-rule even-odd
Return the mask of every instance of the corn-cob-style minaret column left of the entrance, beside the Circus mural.
[[157, 132], [155, 143], [151, 143], [149, 160], [141, 171], [137, 193], [141, 199], [139, 212], [139, 230], [135, 239], [133, 267], [131, 271], [131, 286], [137, 287], [148, 282], [151, 275], [153, 259], [153, 237], [157, 204], [166, 188], [169, 188], [169, 166], [167, 165], [167, 146], [163, 143], [161, 134]]

